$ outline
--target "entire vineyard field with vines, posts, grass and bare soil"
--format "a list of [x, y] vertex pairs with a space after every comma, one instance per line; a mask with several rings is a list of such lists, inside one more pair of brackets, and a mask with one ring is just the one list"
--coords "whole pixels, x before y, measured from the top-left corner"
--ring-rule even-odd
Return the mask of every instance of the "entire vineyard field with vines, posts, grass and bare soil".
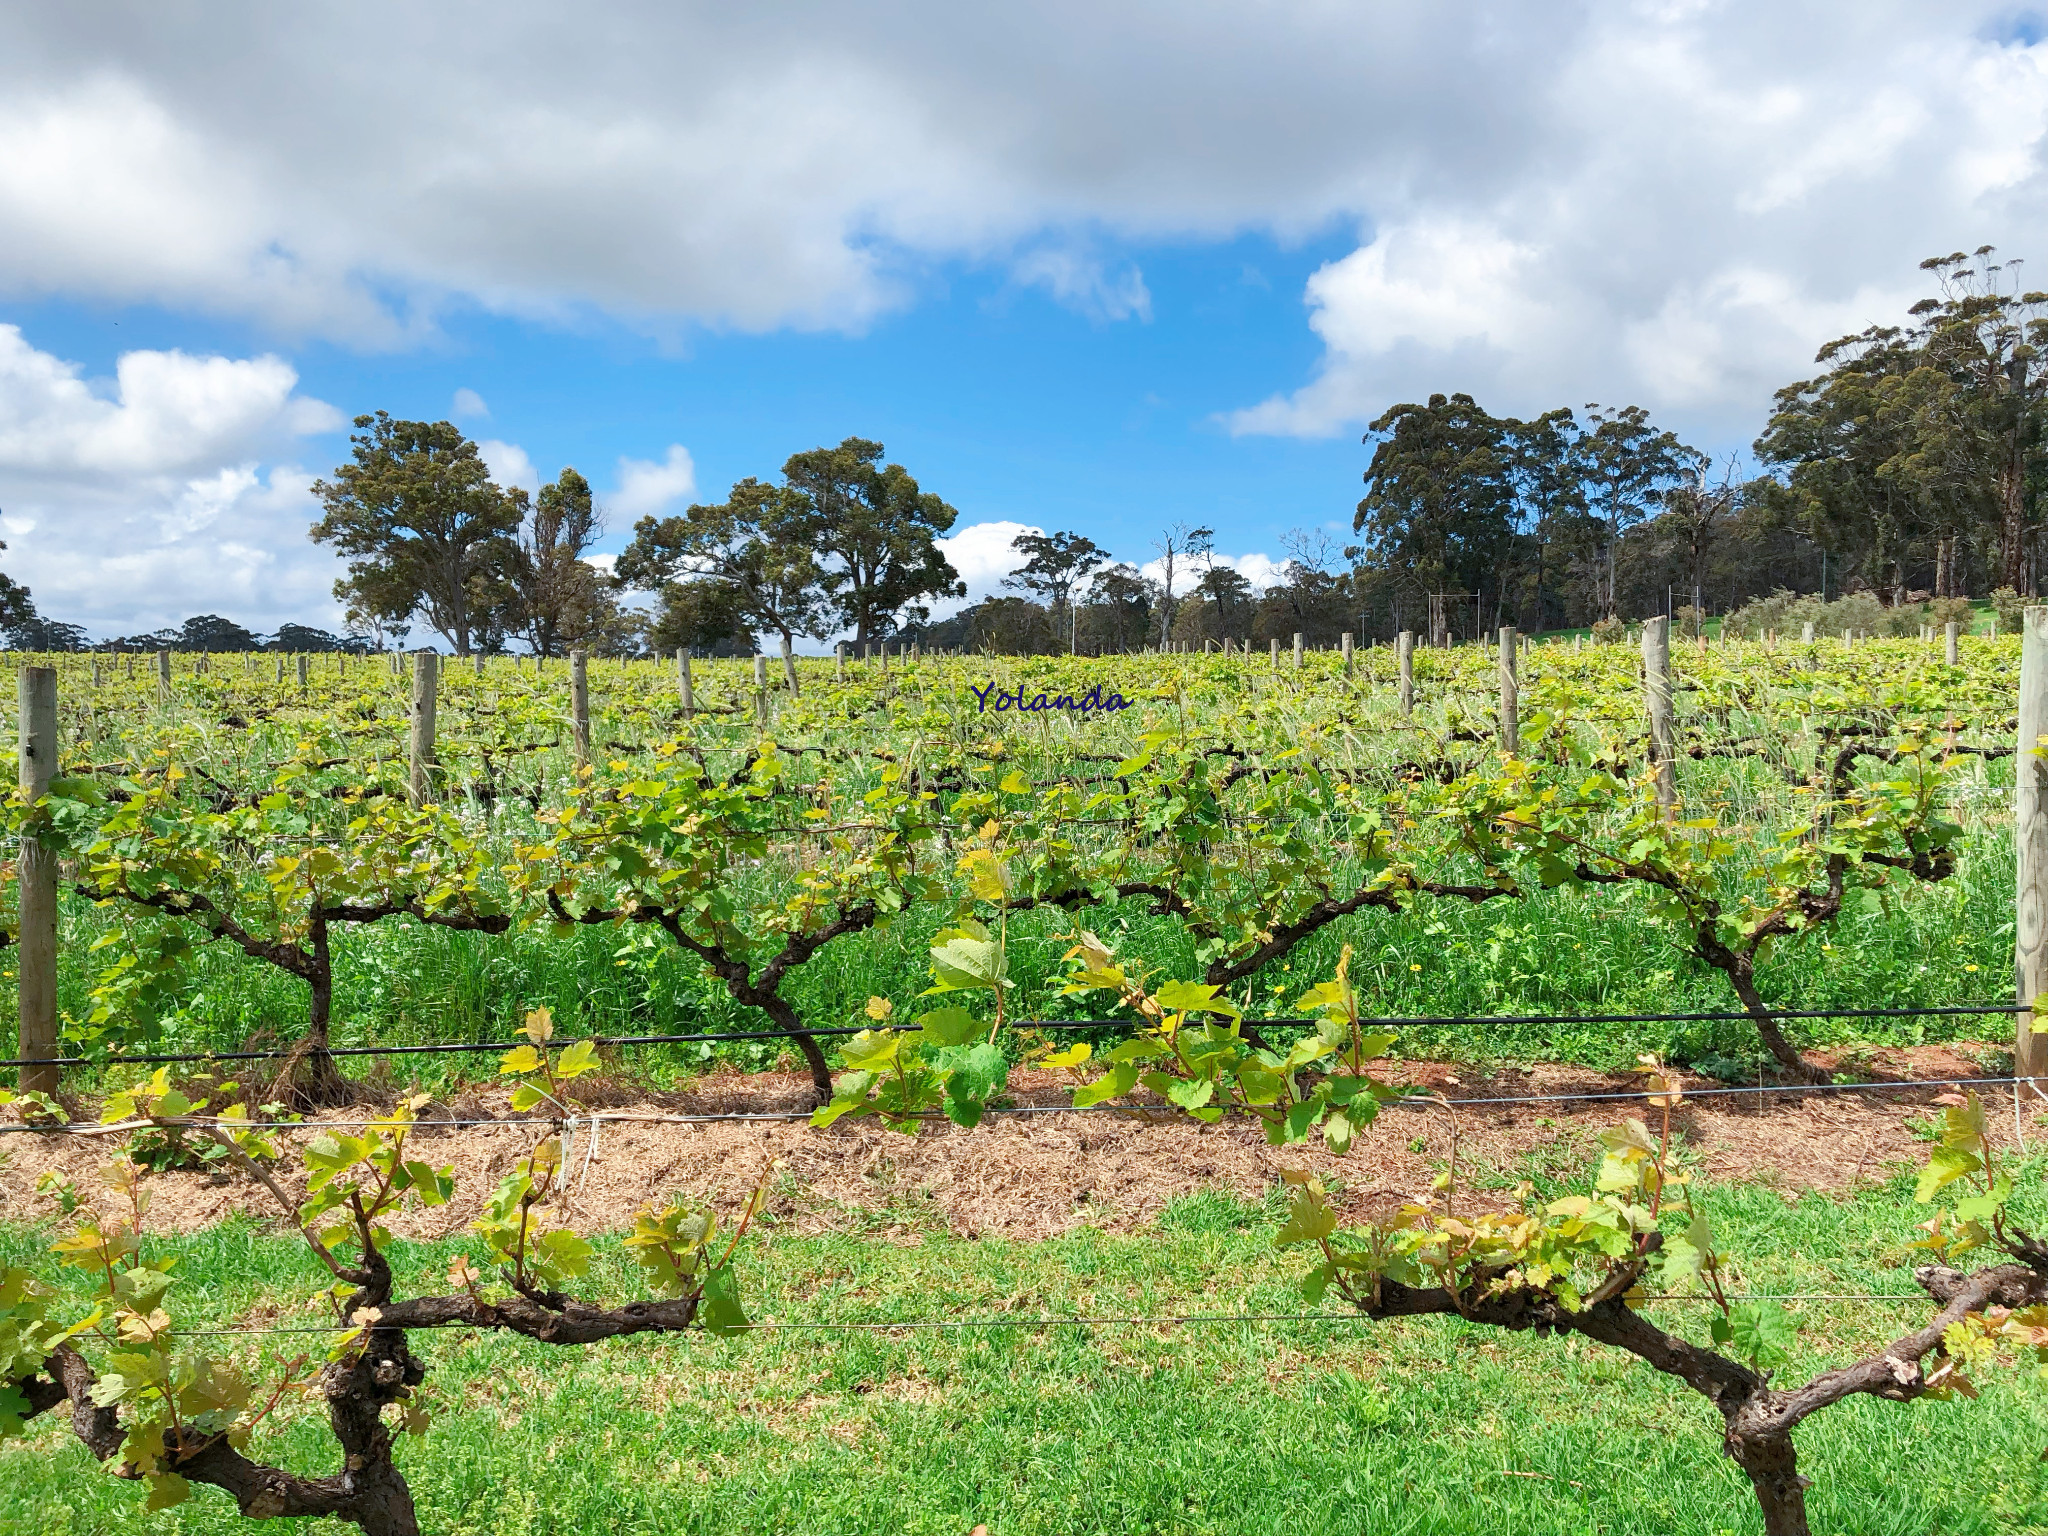
[[2038, 1528], [2019, 657], [41, 659], [0, 1522]]

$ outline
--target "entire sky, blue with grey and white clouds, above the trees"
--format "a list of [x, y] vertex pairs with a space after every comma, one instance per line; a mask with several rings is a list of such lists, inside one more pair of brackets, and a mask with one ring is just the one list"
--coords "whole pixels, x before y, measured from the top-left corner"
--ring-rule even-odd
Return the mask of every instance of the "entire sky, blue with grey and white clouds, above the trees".
[[[94, 637], [340, 627], [352, 416], [608, 532], [858, 434], [1253, 582], [1389, 406], [1716, 457], [1919, 262], [2048, 264], [2048, 18], [1987, 4], [498, 0], [0, 12], [0, 539]], [[2040, 279], [2048, 287], [2048, 274]]]

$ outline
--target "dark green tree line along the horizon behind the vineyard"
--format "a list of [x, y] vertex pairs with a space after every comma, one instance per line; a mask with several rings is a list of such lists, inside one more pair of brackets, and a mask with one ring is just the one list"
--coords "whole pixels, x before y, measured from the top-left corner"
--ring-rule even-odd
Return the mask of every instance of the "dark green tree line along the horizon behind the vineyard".
[[[348, 635], [287, 625], [264, 641], [201, 614], [117, 645], [383, 649], [424, 623], [463, 655], [733, 655], [831, 635], [1092, 653], [1403, 629], [1444, 643], [1503, 623], [1698, 621], [1772, 594], [2011, 604], [2044, 575], [2048, 293], [1993, 256], [1921, 262], [1933, 293], [1901, 324], [1823, 346], [1817, 373], [1776, 393], [1747, 477], [1640, 406], [1528, 420], [1466, 393], [1393, 406], [1364, 436], [1356, 543], [1286, 535], [1264, 590], [1206, 526], [1167, 526], [1145, 569], [1083, 532], [1030, 532], [1004, 594], [934, 618], [965, 596], [940, 547], [958, 512], [854, 436], [795, 453], [780, 477], [741, 479], [723, 502], [641, 518], [606, 571], [592, 561], [604, 516], [575, 469], [528, 496], [496, 485], [453, 424], [377, 412], [354, 420], [350, 463], [313, 485], [311, 537], [346, 561], [334, 594]], [[627, 608], [629, 592], [653, 606]], [[12, 649], [86, 645], [4, 575], [0, 635]]]

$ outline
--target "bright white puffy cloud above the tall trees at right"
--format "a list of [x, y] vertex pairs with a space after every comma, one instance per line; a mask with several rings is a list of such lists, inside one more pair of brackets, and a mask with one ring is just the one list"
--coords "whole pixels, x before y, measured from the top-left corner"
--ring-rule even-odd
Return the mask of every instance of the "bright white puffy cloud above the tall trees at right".
[[2048, 47], [1989, 8], [1593, 8], [1513, 178], [1413, 182], [1307, 283], [1323, 342], [1235, 432], [1327, 436], [1397, 399], [1630, 399], [1747, 436], [1819, 342], [1901, 319], [1923, 256], [2048, 246]]

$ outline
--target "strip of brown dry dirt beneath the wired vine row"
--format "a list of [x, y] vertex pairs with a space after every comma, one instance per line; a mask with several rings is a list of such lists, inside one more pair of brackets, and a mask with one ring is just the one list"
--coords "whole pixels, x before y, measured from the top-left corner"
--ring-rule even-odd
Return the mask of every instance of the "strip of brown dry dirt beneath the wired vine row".
[[[1823, 1057], [1825, 1059], [1825, 1057]], [[1788, 1198], [1804, 1190], [1847, 1192], [1890, 1178], [1917, 1159], [1925, 1124], [1939, 1106], [1944, 1081], [1985, 1077], [1982, 1067], [1954, 1047], [1882, 1051], [1858, 1059], [1858, 1069], [1896, 1079], [1843, 1092], [1722, 1092], [1690, 1098], [1673, 1116], [1683, 1133], [1683, 1157], [1706, 1182], [1755, 1180]], [[1505, 1192], [1532, 1171], [1571, 1176], [1597, 1157], [1597, 1135], [1626, 1116], [1651, 1118], [1640, 1100], [1579, 1100], [1485, 1104], [1477, 1100], [1540, 1094], [1628, 1094], [1640, 1083], [1573, 1067], [1501, 1067], [1481, 1071], [1436, 1063], [1399, 1063], [1397, 1081], [1425, 1083], [1454, 1102], [1442, 1108], [1391, 1108], [1366, 1128], [1348, 1157], [1321, 1143], [1268, 1147], [1257, 1124], [1141, 1124], [1104, 1112], [991, 1114], [975, 1130], [926, 1124], [915, 1135], [874, 1122], [842, 1120], [811, 1130], [803, 1120], [725, 1120], [715, 1124], [623, 1120], [612, 1116], [686, 1116], [778, 1112], [805, 1106], [809, 1081], [782, 1075], [702, 1077], [688, 1090], [649, 1094], [600, 1083], [588, 1098], [602, 1122], [580, 1124], [567, 1147], [573, 1178], [571, 1225], [606, 1231], [631, 1225], [643, 1204], [676, 1196], [737, 1204], [768, 1174], [768, 1212], [778, 1231], [858, 1231], [897, 1241], [950, 1231], [963, 1237], [1051, 1237], [1075, 1227], [1120, 1231], [1153, 1221], [1161, 1208], [1198, 1190], [1266, 1196], [1282, 1169], [1311, 1169], [1337, 1190], [1350, 1217], [1427, 1198], [1432, 1178], [1452, 1151], [1458, 1188], [1475, 1202]], [[1720, 1087], [1698, 1079], [1696, 1087]], [[1993, 1124], [2011, 1145], [2015, 1120], [2009, 1090], [1982, 1090]], [[1057, 1106], [1065, 1083], [1053, 1073], [1012, 1075], [1012, 1102]], [[80, 1106], [88, 1110], [90, 1106]], [[2025, 1114], [2028, 1141], [2048, 1139], [2048, 1104]], [[340, 1110], [332, 1118], [360, 1118]], [[483, 1124], [467, 1124], [467, 1122]], [[449, 1206], [406, 1212], [391, 1225], [408, 1237], [440, 1237], [465, 1227], [496, 1182], [551, 1126], [514, 1118], [504, 1092], [471, 1090], [453, 1104], [432, 1104], [414, 1133], [416, 1155], [455, 1167]], [[313, 1133], [287, 1133], [301, 1139]], [[61, 1133], [0, 1137], [0, 1221], [49, 1212], [35, 1192], [45, 1169], [59, 1169], [88, 1188], [111, 1155], [111, 1139]], [[287, 1157], [287, 1165], [293, 1159]], [[303, 1184], [285, 1178], [291, 1196]], [[193, 1229], [231, 1212], [276, 1217], [260, 1188], [225, 1174], [170, 1171], [150, 1180], [152, 1227]]]

